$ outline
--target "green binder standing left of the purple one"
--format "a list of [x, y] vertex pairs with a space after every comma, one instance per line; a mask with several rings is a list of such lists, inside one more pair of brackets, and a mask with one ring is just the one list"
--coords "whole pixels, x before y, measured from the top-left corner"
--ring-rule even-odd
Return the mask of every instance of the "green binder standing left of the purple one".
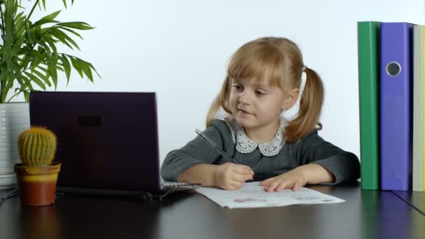
[[380, 22], [357, 22], [361, 189], [379, 186]]

